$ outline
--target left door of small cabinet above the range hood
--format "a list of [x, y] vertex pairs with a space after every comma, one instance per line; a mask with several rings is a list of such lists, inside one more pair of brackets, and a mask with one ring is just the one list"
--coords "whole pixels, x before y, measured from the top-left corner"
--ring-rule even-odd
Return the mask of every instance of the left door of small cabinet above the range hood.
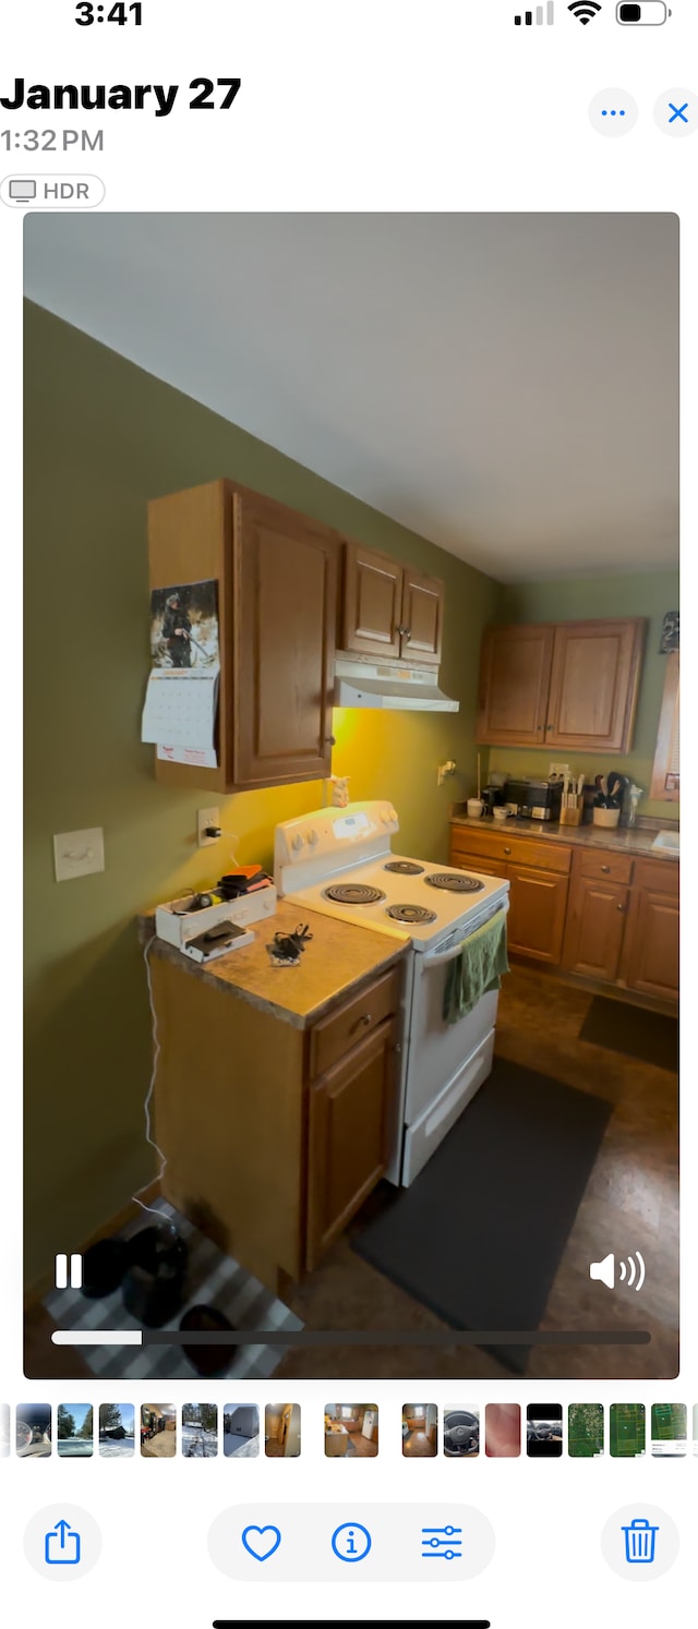
[[388, 554], [344, 544], [342, 648], [400, 656], [403, 567]]

